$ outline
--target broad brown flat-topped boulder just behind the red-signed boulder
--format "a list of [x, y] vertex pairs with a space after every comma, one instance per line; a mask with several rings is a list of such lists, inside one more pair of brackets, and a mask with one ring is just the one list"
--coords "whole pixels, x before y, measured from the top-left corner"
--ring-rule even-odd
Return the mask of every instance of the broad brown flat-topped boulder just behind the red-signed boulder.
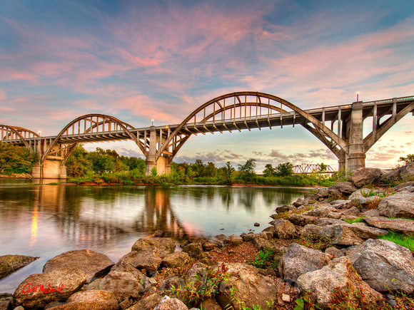
[[94, 277], [101, 277], [109, 272], [113, 264], [105, 254], [90, 249], [74, 249], [49, 259], [43, 267], [43, 273], [46, 274], [62, 268], [81, 270], [89, 283]]

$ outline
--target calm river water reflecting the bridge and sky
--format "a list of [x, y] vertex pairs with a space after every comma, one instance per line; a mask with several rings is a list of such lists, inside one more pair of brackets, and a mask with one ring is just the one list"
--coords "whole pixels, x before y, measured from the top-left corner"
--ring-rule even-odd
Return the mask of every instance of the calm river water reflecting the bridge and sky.
[[[71, 249], [93, 249], [117, 262], [133, 243], [163, 230], [176, 237], [260, 232], [276, 207], [312, 189], [222, 186], [29, 185], [0, 180], [0, 255], [41, 257], [0, 280], [13, 292], [48, 259]], [[258, 222], [261, 227], [254, 227]]]

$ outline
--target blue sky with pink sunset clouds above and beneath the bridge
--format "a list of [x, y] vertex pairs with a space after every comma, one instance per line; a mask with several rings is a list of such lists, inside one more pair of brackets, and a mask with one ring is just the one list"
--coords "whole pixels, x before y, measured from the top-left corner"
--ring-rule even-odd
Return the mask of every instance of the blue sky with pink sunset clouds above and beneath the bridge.
[[[398, 4], [398, 5], [397, 5]], [[414, 1], [1, 0], [0, 123], [57, 135], [88, 113], [136, 128], [181, 123], [208, 100], [260, 91], [299, 108], [414, 95]], [[367, 167], [414, 153], [409, 114]], [[372, 124], [367, 120], [364, 135]], [[142, 157], [131, 141], [93, 143]], [[301, 126], [191, 137], [176, 162], [338, 160]]]

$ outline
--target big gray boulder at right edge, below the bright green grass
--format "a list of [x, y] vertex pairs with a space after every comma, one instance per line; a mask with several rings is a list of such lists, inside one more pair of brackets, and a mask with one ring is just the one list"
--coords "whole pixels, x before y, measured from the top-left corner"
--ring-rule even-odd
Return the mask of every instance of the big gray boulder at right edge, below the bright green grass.
[[368, 239], [348, 252], [348, 258], [376, 291], [414, 290], [414, 257], [405, 247], [384, 239]]

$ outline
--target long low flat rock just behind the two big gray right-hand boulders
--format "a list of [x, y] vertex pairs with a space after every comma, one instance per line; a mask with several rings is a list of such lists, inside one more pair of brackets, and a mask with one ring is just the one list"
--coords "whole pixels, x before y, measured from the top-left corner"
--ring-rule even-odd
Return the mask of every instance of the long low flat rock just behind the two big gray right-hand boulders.
[[366, 239], [378, 238], [387, 231], [375, 227], [368, 227], [364, 223], [330, 224], [317, 226], [308, 224], [303, 227], [303, 237], [325, 239], [334, 245], [359, 245]]

